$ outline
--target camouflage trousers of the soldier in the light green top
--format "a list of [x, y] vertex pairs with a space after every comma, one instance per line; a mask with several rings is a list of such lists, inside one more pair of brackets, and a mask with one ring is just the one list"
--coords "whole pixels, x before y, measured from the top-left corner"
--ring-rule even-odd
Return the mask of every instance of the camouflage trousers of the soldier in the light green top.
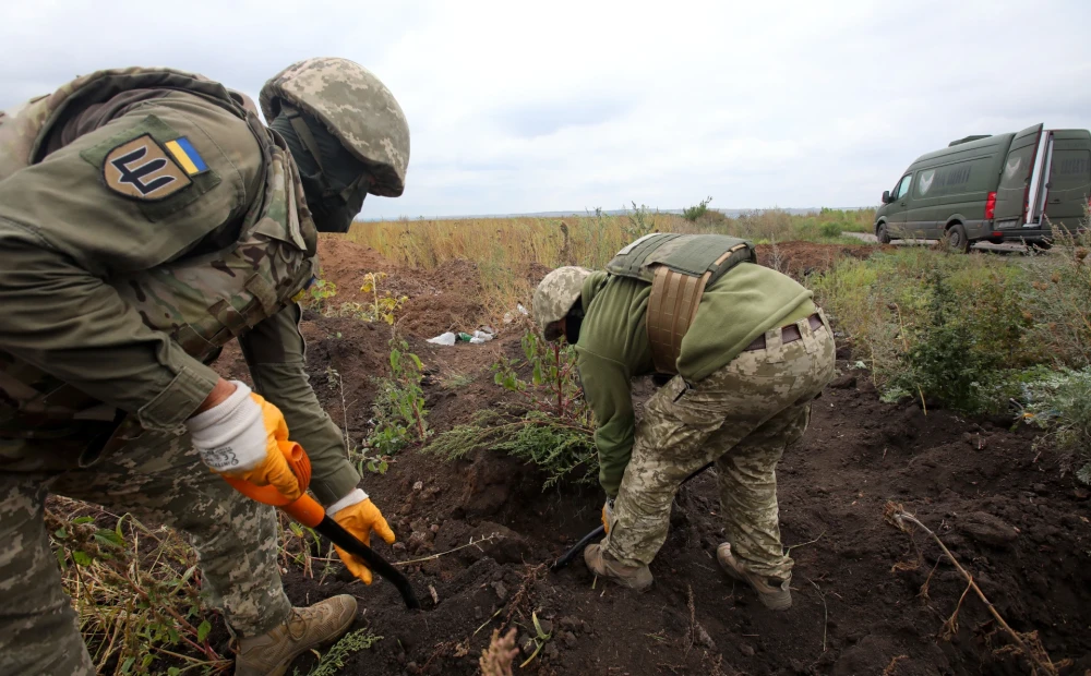
[[645, 405], [603, 546], [628, 565], [650, 564], [667, 540], [671, 502], [681, 482], [715, 461], [731, 551], [753, 572], [787, 579], [792, 559], [780, 542], [777, 463], [799, 440], [811, 401], [834, 376], [834, 338], [823, 315], [812, 331], [783, 343], [766, 333], [764, 350], [747, 351], [707, 378], [675, 376]]

